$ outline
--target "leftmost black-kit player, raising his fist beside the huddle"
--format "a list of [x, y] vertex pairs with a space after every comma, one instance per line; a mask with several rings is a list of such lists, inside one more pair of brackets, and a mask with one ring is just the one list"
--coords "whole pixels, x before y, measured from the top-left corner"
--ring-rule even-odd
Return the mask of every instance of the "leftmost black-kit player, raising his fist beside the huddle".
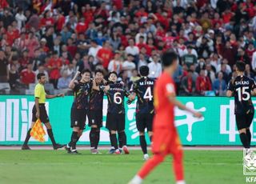
[[70, 154], [78, 154], [76, 143], [78, 142], [82, 131], [86, 126], [86, 115], [89, 109], [89, 96], [95, 82], [90, 80], [90, 70], [82, 70], [81, 80], [76, 81], [80, 72], [77, 72], [70, 82], [70, 89], [74, 90], [74, 102], [71, 107], [71, 128], [73, 132], [70, 143], [66, 145], [66, 150]]

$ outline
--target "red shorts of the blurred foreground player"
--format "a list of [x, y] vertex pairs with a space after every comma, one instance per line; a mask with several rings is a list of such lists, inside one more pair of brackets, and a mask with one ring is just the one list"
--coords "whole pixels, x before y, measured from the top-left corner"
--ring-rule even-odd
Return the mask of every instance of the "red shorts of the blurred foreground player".
[[154, 154], [174, 154], [182, 150], [176, 130], [155, 128], [153, 130], [152, 152]]

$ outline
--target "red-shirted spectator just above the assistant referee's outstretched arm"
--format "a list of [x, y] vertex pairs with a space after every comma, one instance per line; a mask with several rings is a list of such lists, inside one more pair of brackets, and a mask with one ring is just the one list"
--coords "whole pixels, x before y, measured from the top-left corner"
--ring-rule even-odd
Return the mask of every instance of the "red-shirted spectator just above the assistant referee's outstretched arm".
[[50, 72], [50, 83], [57, 89], [58, 78], [61, 77], [60, 69], [62, 67], [62, 60], [58, 58], [58, 52], [54, 51], [53, 57], [47, 63], [47, 67]]

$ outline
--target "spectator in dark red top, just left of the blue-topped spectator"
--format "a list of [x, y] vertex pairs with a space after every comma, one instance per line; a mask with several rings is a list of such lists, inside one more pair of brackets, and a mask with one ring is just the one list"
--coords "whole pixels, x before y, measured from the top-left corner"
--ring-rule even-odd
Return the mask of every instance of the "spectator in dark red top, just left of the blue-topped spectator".
[[196, 90], [198, 94], [204, 95], [207, 90], [211, 89], [211, 82], [210, 79], [206, 76], [206, 70], [202, 69], [196, 81]]

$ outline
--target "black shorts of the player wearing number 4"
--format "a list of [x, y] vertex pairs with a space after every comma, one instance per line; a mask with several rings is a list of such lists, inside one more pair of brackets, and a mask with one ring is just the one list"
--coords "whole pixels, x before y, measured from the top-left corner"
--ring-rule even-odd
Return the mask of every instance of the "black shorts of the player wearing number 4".
[[154, 114], [136, 114], [136, 126], [138, 131], [152, 131]]

